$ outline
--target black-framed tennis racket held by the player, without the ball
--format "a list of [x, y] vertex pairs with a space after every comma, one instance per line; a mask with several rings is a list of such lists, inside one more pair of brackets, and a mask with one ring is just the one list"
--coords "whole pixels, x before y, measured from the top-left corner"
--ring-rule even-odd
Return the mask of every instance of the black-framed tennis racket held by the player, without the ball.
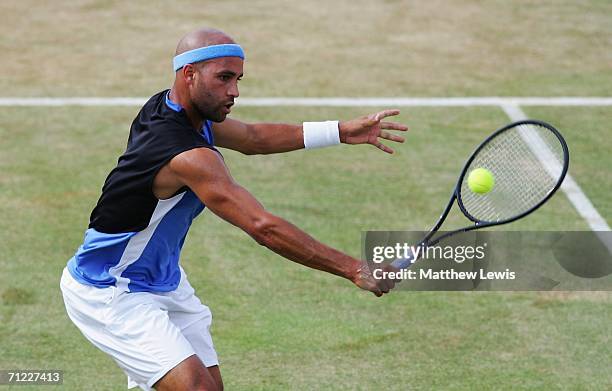
[[[461, 232], [508, 224], [533, 213], [559, 189], [568, 166], [567, 143], [553, 126], [536, 120], [504, 126], [472, 153], [438, 222], [413, 248], [433, 246]], [[495, 178], [488, 193], [475, 193], [468, 186], [469, 173], [477, 168], [489, 170]], [[472, 224], [435, 237], [455, 201]], [[409, 253], [391, 265], [405, 269], [415, 258]]]

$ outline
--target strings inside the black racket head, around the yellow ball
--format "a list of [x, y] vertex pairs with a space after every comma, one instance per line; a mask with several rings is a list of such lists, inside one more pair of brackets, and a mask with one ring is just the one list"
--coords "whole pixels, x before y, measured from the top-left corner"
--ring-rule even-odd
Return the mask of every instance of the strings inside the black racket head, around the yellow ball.
[[476, 194], [461, 183], [461, 202], [476, 220], [497, 222], [529, 211], [557, 185], [565, 153], [556, 134], [535, 124], [510, 128], [491, 139], [470, 163], [467, 173], [486, 168], [495, 186]]

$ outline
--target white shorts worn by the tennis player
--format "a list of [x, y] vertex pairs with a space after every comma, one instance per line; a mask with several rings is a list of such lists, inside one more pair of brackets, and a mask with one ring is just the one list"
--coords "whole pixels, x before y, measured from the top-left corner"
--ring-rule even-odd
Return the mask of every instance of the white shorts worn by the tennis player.
[[96, 288], [79, 283], [67, 269], [60, 287], [72, 322], [123, 369], [128, 388], [150, 390], [194, 354], [207, 367], [219, 364], [209, 330], [212, 314], [195, 296], [182, 269], [172, 292]]

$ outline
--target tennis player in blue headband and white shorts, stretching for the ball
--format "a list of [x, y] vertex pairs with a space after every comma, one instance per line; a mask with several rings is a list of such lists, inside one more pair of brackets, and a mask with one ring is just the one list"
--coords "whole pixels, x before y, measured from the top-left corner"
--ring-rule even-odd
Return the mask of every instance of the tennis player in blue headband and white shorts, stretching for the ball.
[[125, 153], [110, 172], [89, 228], [61, 279], [70, 319], [128, 376], [128, 388], [219, 390], [211, 312], [179, 265], [192, 220], [207, 206], [259, 244], [307, 267], [346, 278], [381, 296], [360, 260], [267, 212], [237, 184], [218, 147], [246, 155], [339, 143], [403, 142], [385, 110], [346, 122], [247, 124], [227, 118], [238, 97], [244, 52], [217, 30], [185, 36], [174, 57], [172, 89], [149, 99], [134, 119]]

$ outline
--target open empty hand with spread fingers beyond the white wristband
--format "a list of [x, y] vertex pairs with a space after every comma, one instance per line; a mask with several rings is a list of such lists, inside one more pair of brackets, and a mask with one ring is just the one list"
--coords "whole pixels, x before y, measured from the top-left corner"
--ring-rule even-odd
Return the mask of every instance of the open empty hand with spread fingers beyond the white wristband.
[[408, 130], [406, 125], [398, 122], [383, 121], [386, 117], [398, 115], [399, 110], [383, 110], [368, 116], [350, 121], [341, 121], [340, 141], [345, 144], [372, 144], [383, 152], [393, 153], [393, 149], [381, 143], [379, 139], [403, 143], [404, 138], [388, 132], [387, 130]]

